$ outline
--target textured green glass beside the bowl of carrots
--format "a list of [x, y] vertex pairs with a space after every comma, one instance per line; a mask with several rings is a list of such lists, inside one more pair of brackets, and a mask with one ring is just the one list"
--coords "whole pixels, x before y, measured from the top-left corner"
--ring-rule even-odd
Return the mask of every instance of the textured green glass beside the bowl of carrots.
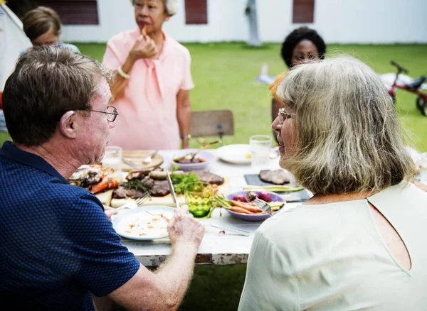
[[205, 217], [212, 207], [213, 187], [206, 182], [191, 182], [185, 186], [184, 197], [194, 217]]

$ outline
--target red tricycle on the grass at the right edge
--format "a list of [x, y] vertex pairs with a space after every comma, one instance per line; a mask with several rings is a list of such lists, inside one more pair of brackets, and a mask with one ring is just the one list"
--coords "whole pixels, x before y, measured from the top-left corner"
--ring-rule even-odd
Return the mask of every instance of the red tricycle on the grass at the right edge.
[[396, 89], [405, 89], [408, 92], [415, 93], [418, 95], [418, 97], [416, 98], [416, 107], [421, 111], [424, 116], [427, 116], [427, 93], [421, 91], [420, 89], [421, 84], [426, 81], [427, 77], [422, 76], [416, 80], [413, 80], [413, 82], [411, 83], [399, 84], [397, 83], [399, 75], [401, 73], [408, 73], [408, 70], [406, 70], [404, 67], [397, 64], [393, 60], [390, 63], [391, 65], [394, 65], [394, 67], [397, 68], [396, 78], [394, 79], [394, 82], [389, 89], [389, 94], [393, 98], [393, 101], [396, 101]]

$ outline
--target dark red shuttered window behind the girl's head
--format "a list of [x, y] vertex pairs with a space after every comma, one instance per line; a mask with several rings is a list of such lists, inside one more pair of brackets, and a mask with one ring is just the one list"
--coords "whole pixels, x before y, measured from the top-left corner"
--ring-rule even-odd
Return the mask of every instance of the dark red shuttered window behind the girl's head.
[[48, 6], [58, 12], [63, 25], [97, 25], [97, 0], [39, 0], [39, 6]]

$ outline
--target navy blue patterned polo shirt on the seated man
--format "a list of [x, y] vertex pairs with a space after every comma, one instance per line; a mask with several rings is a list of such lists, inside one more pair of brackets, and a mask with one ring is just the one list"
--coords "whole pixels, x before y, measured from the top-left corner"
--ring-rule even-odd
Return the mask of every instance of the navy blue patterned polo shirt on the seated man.
[[120, 243], [100, 200], [46, 160], [0, 148], [0, 301], [16, 310], [95, 310], [139, 261]]

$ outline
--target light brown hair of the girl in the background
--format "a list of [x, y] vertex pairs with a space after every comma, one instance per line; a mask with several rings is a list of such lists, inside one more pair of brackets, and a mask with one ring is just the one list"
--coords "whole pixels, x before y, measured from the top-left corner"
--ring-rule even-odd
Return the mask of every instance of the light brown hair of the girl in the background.
[[28, 11], [22, 18], [23, 31], [33, 42], [36, 38], [47, 33], [51, 28], [55, 35], [59, 35], [60, 19], [58, 13], [46, 6], [38, 6], [36, 9]]

